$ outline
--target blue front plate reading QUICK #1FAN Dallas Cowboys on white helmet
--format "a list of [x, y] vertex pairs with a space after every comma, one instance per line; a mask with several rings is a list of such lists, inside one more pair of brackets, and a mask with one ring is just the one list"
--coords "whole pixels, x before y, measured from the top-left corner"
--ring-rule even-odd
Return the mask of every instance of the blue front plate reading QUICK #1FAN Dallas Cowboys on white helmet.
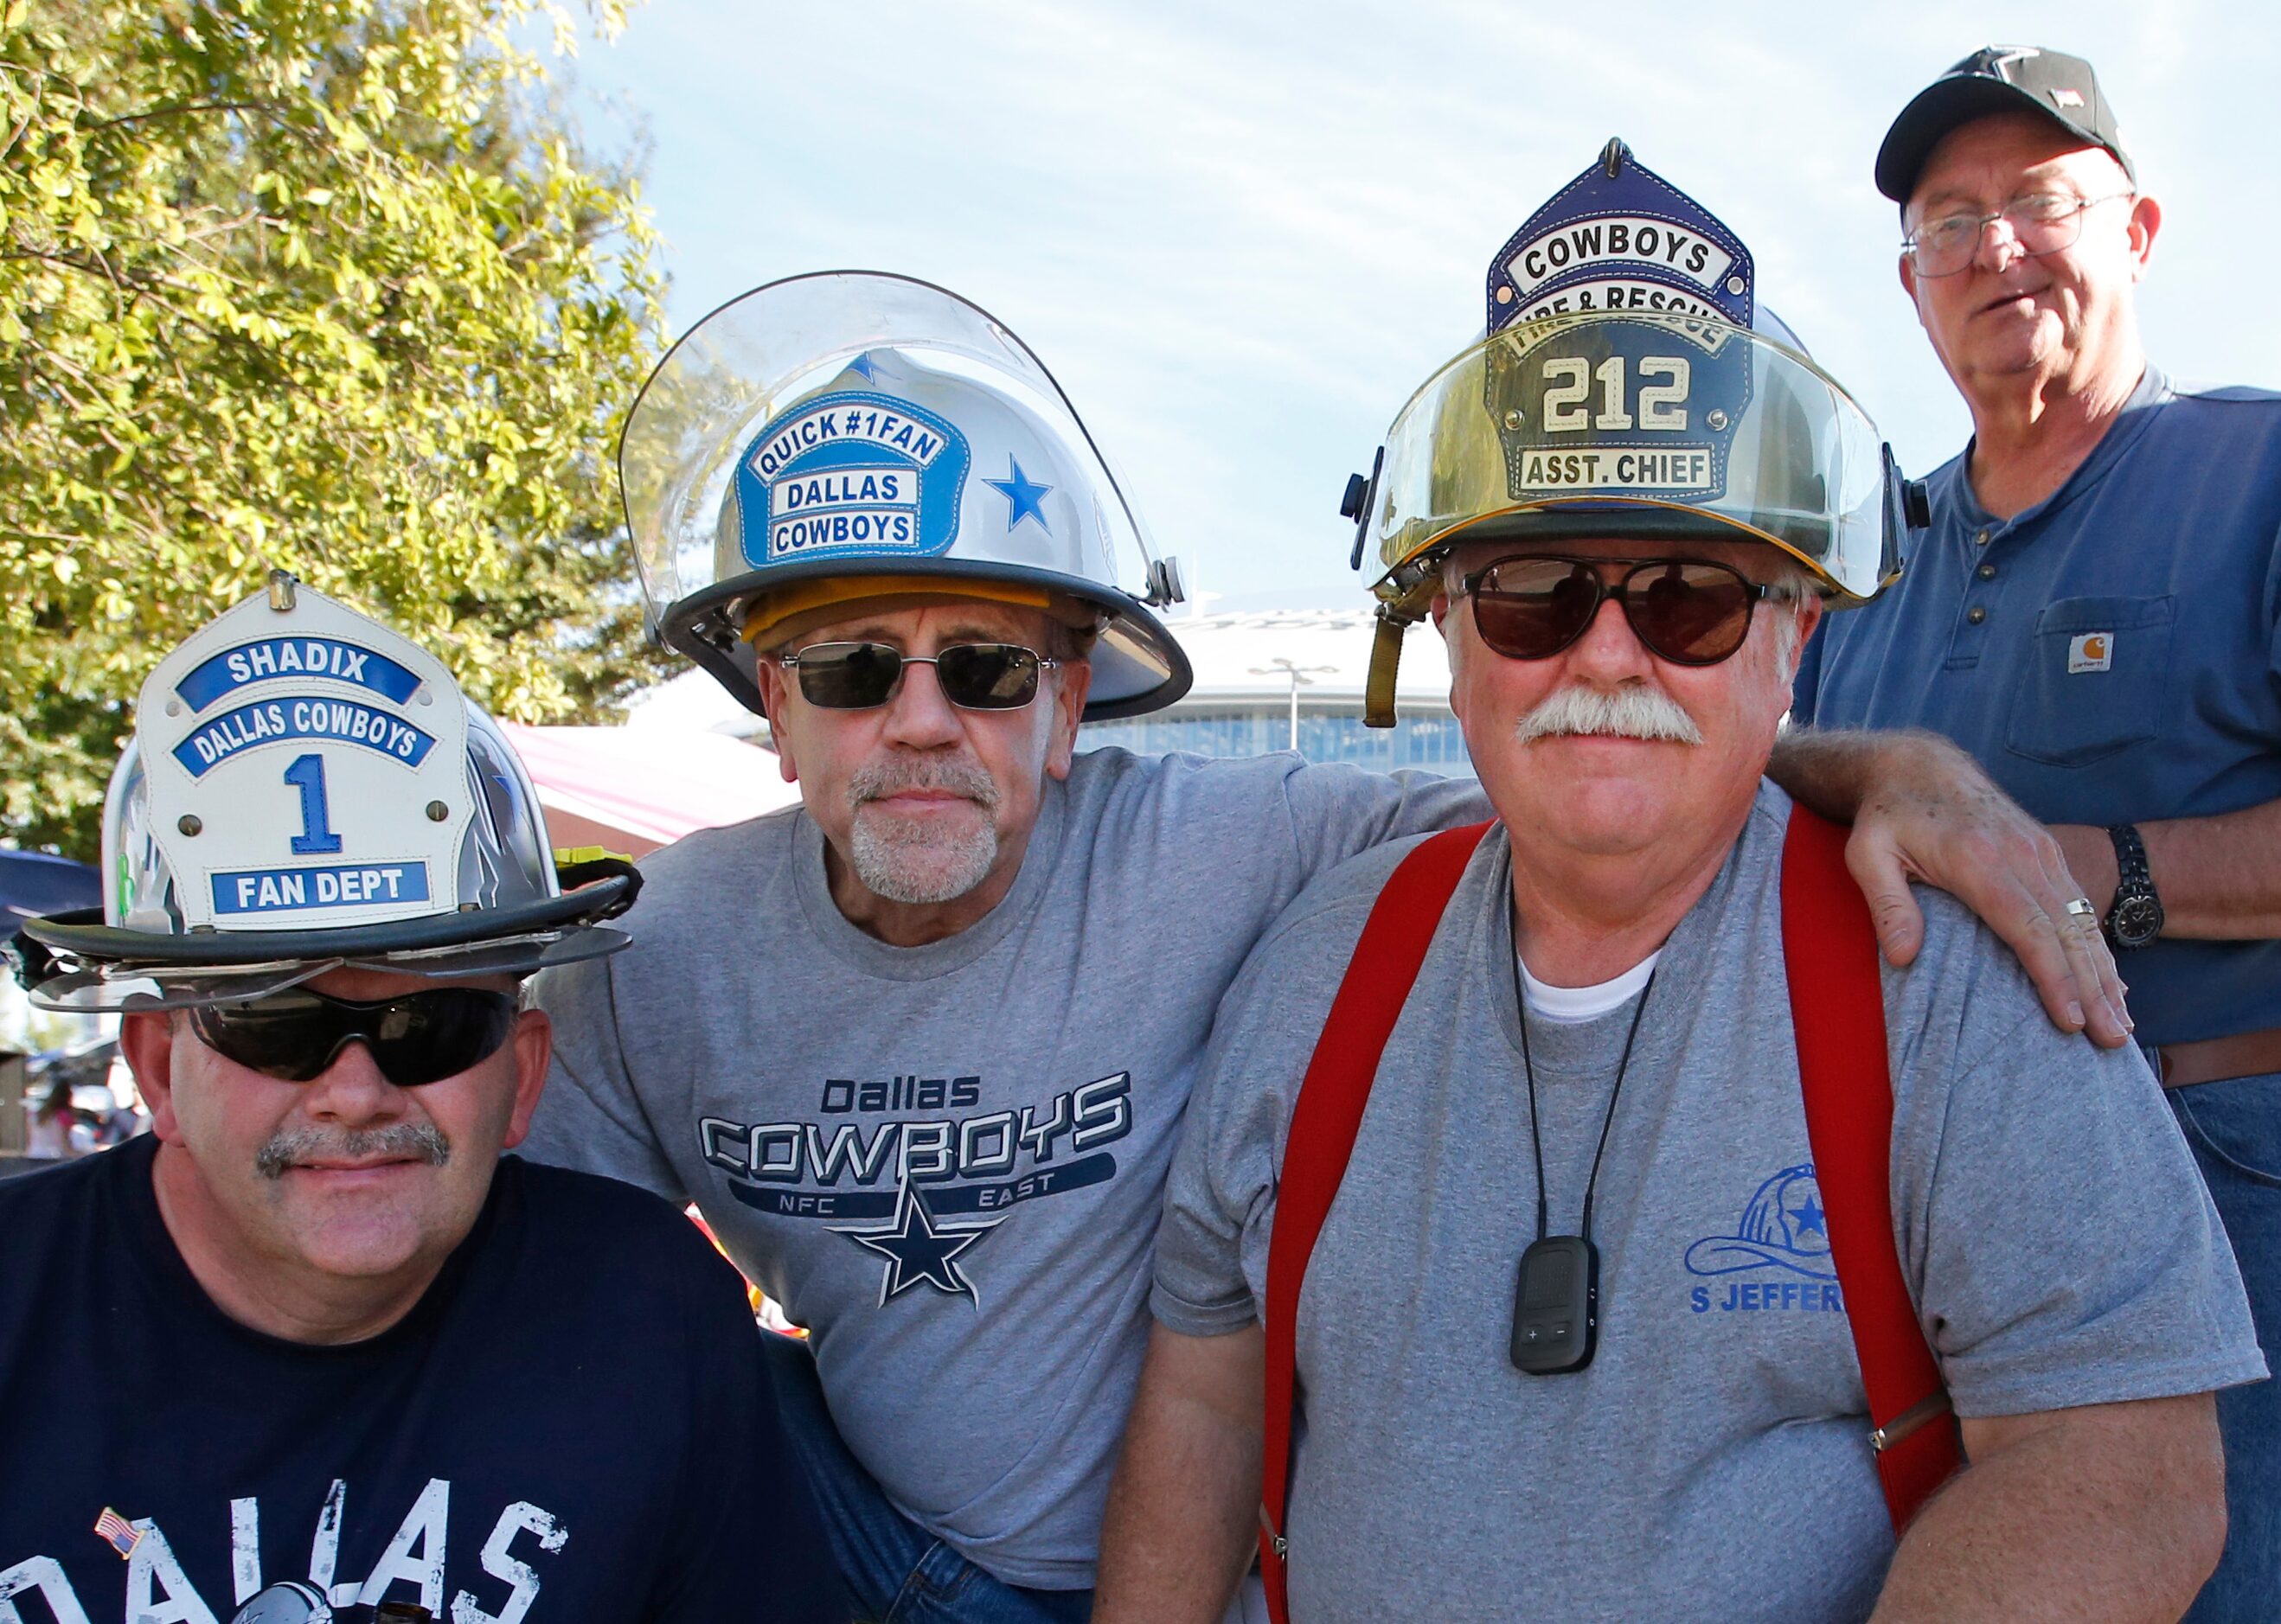
[[744, 561], [942, 557], [972, 465], [967, 438], [924, 406], [817, 395], [764, 424], [737, 463]]

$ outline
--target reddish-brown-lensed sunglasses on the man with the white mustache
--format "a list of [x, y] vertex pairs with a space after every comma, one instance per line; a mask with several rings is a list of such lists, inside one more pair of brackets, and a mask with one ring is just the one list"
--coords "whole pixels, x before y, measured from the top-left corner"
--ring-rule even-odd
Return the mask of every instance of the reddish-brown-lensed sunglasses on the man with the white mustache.
[[1551, 659], [1581, 639], [1610, 598], [1647, 652], [1674, 666], [1715, 666], [1743, 648], [1750, 611], [1786, 588], [1708, 559], [1640, 559], [1615, 586], [1590, 559], [1499, 559], [1464, 577], [1474, 630], [1505, 659]]

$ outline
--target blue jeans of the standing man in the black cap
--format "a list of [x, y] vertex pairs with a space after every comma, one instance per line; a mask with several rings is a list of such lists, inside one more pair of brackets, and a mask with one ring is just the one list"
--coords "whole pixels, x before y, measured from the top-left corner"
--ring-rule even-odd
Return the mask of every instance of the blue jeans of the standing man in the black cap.
[[[2201, 1177], [2226, 1220], [2265, 1362], [2281, 1369], [2281, 1072], [2172, 1088]], [[2217, 1396], [2226, 1439], [2226, 1556], [2187, 1624], [2267, 1624], [2281, 1613], [2281, 1382]]]

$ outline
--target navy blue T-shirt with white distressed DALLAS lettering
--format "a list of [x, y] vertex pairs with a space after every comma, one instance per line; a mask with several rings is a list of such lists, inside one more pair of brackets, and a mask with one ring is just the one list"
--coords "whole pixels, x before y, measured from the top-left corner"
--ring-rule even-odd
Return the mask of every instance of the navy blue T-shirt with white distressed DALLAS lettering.
[[655, 1195], [506, 1156], [411, 1314], [312, 1348], [198, 1289], [153, 1156], [0, 1182], [0, 1619], [228, 1624], [285, 1578], [454, 1624], [844, 1617], [764, 1332]]

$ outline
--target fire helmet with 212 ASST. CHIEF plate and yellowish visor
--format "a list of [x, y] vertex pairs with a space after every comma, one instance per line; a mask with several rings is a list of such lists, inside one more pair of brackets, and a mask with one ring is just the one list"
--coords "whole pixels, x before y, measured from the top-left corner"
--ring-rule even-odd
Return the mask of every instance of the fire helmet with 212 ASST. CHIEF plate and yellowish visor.
[[1394, 723], [1403, 632], [1460, 541], [1763, 541], [1834, 607], [1900, 573], [1921, 502], [1877, 427], [1756, 308], [1750, 249], [1622, 141], [1489, 267], [1489, 331], [1348, 481], [1378, 554], [1366, 721]]

